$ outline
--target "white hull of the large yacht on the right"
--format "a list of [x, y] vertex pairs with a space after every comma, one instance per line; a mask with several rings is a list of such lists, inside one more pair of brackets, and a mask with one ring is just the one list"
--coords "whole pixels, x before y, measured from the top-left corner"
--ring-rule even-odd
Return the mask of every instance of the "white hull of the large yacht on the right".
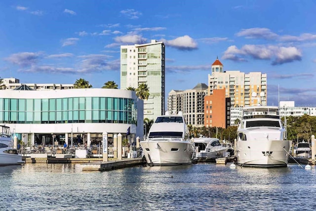
[[[253, 167], [286, 167], [289, 140], [247, 140], [237, 142], [237, 164]], [[286, 150], [286, 151], [285, 151]]]

